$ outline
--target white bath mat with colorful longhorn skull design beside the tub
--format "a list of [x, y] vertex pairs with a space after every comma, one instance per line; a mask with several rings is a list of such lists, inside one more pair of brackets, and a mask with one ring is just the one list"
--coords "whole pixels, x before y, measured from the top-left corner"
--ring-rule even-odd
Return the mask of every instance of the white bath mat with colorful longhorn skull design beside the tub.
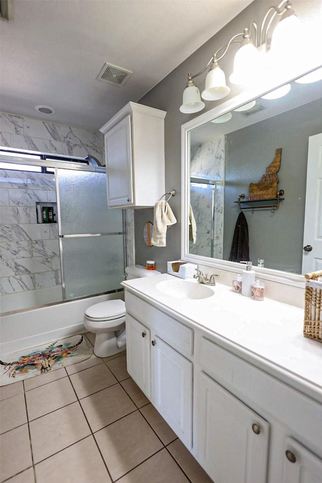
[[91, 357], [93, 348], [86, 337], [68, 337], [25, 351], [5, 354], [0, 360], [0, 386], [85, 361]]

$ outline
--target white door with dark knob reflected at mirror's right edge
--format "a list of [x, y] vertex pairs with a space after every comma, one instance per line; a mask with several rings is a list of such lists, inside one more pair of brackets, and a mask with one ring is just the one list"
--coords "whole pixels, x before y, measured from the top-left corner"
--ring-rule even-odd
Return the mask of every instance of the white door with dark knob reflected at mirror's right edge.
[[302, 274], [316, 270], [322, 270], [322, 133], [308, 138]]

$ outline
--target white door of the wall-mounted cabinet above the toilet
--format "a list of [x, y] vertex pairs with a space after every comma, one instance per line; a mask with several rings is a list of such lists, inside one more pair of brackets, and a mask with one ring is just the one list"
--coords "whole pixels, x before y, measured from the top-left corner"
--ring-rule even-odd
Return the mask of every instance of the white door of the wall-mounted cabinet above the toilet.
[[133, 204], [131, 116], [105, 134], [108, 206]]

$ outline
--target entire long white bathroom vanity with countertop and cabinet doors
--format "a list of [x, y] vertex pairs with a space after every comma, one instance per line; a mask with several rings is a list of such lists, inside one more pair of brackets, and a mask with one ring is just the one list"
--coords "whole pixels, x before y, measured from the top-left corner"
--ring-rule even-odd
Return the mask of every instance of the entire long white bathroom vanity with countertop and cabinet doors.
[[131, 377], [216, 483], [321, 483], [322, 347], [303, 310], [174, 279], [122, 283]]

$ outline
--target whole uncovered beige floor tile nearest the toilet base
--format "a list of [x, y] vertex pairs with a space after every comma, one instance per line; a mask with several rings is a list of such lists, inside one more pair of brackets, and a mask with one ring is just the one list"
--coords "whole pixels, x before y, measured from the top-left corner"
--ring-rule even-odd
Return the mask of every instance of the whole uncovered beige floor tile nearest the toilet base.
[[79, 399], [117, 382], [105, 364], [99, 364], [84, 371], [76, 372], [69, 377]]

